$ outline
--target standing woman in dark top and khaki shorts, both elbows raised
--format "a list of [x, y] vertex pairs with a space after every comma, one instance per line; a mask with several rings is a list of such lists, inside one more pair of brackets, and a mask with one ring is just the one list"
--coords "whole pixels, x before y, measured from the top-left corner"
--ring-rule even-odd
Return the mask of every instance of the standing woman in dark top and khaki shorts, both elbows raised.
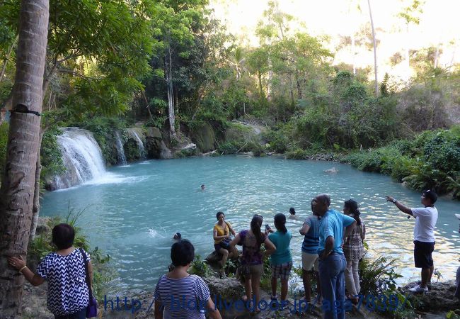
[[[260, 246], [265, 245], [265, 256], [269, 256], [275, 252], [276, 247], [268, 239], [268, 237], [260, 231], [262, 226], [263, 217], [254, 215], [251, 220], [251, 229], [243, 230], [239, 233], [230, 245], [232, 250], [235, 245], [243, 245], [243, 254], [241, 256], [241, 274], [245, 279], [246, 298], [251, 300], [251, 292], [254, 295], [253, 300], [255, 304], [253, 309], [259, 304], [260, 300], [260, 277], [263, 274], [263, 254], [260, 252]], [[256, 310], [259, 312], [260, 310]]]

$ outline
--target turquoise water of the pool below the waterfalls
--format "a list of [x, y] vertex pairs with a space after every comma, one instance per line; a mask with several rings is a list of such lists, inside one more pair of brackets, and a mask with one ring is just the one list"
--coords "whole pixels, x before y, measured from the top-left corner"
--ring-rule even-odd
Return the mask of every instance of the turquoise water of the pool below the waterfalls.
[[[339, 172], [323, 172], [331, 167]], [[201, 184], [206, 185], [205, 191], [200, 190]], [[311, 198], [320, 193], [330, 194], [331, 207], [340, 211], [349, 198], [360, 203], [369, 253], [398, 257], [397, 271], [404, 276], [401, 284], [420, 276], [413, 267], [415, 220], [408, 220], [384, 199], [392, 195], [407, 206], [420, 207], [420, 194], [390, 177], [345, 164], [246, 156], [151, 160], [112, 167], [98, 180], [50, 192], [42, 200], [40, 214], [65, 217], [69, 202], [77, 211], [86, 208], [79, 225], [92, 246], [112, 257], [119, 274], [113, 290], [152, 290], [171, 262], [174, 233], [182, 233], [205, 257], [214, 249], [217, 211], [224, 211], [238, 231], [249, 228], [255, 213], [270, 225], [275, 213], [288, 213], [291, 206], [299, 216], [307, 216]], [[460, 213], [460, 203], [439, 198], [436, 206], [435, 268], [443, 280], [454, 279], [460, 264], [459, 220], [454, 213]], [[301, 221], [288, 220], [287, 228], [294, 235], [294, 266], [299, 266]]]

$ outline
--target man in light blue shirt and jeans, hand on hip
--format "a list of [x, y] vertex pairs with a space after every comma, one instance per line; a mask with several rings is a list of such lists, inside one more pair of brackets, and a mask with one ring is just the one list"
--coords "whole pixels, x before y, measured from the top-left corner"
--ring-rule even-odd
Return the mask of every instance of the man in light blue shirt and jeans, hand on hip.
[[347, 261], [342, 245], [355, 228], [356, 220], [329, 206], [330, 197], [326, 194], [316, 196], [313, 201], [314, 212], [321, 217], [318, 255], [323, 311], [325, 319], [345, 319], [344, 272]]

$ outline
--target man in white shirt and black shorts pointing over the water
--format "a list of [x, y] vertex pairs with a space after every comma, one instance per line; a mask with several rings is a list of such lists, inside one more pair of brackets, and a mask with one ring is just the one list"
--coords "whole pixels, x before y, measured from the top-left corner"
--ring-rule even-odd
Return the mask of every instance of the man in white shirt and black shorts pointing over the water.
[[[414, 228], [414, 259], [415, 267], [422, 269], [422, 283], [409, 289], [415, 293], [428, 291], [427, 284], [431, 283], [431, 277], [435, 266], [433, 264], [432, 252], [435, 250], [435, 225], [437, 221], [437, 209], [435, 203], [437, 195], [435, 191], [428, 189], [422, 192], [421, 202], [424, 207], [408, 208], [396, 201], [391, 196], [386, 196], [400, 211], [415, 217]], [[410, 218], [408, 216], [408, 218]]]

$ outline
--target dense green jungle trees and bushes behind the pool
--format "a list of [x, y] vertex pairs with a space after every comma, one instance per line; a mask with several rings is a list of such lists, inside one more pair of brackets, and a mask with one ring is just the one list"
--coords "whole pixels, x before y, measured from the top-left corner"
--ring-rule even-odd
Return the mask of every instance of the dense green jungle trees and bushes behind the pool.
[[[0, 103], [6, 109], [19, 4], [3, 1], [0, 13]], [[270, 1], [258, 22], [258, 46], [249, 47], [213, 18], [206, 0], [51, 0], [42, 176], [64, 169], [58, 126], [88, 128], [100, 142], [113, 128], [141, 122], [160, 128], [174, 144], [211, 125], [219, 154], [243, 147], [290, 158], [335, 152], [359, 169], [460, 198], [459, 65], [440, 67], [439, 47], [413, 50], [408, 61], [395, 55], [391, 63], [408, 62], [415, 77], [401, 83], [385, 74], [376, 95], [371, 68], [334, 65], [328, 38], [292, 21]], [[360, 33], [357, 45], [372, 50], [369, 32]], [[224, 138], [232, 120], [267, 126], [265, 141]], [[7, 132], [5, 121], [2, 168]]]

